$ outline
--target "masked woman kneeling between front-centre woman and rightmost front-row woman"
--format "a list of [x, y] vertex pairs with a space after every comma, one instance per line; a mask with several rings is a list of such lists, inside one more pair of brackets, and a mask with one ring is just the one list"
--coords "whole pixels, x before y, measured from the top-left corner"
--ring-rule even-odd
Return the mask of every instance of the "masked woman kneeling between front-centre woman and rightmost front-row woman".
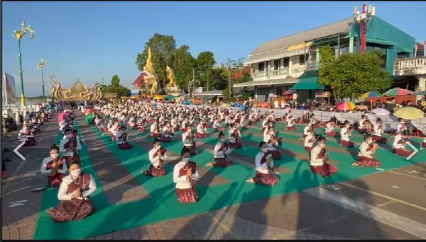
[[256, 163], [256, 176], [247, 181], [263, 185], [275, 185], [280, 178], [278, 178], [273, 169], [273, 159], [271, 151], [268, 151], [268, 144], [260, 142], [259, 148], [261, 151], [254, 160], [254, 163]]

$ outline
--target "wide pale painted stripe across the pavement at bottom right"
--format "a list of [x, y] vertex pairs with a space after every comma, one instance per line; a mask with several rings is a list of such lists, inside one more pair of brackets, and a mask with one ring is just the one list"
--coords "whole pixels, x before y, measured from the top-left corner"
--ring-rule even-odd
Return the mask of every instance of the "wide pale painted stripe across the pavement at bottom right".
[[383, 209], [379, 209], [378, 207], [373, 207], [369, 204], [365, 204], [364, 202], [352, 200], [349, 197], [339, 195], [336, 192], [331, 192], [324, 188], [310, 188], [304, 190], [303, 192], [306, 192], [307, 194], [314, 197], [318, 197], [322, 200], [332, 202], [339, 205], [340, 207], [357, 212], [364, 215], [365, 217], [369, 217], [388, 226], [392, 226], [395, 229], [405, 231], [408, 234], [413, 234], [419, 238], [426, 239], [425, 224], [420, 224], [417, 221], [402, 217], [398, 214], [393, 214]]

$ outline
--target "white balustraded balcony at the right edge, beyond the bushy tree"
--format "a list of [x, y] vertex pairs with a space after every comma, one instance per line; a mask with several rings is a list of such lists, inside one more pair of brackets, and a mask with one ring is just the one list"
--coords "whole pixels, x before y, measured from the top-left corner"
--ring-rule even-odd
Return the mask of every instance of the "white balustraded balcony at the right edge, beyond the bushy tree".
[[395, 59], [394, 75], [410, 76], [426, 74], [426, 57]]

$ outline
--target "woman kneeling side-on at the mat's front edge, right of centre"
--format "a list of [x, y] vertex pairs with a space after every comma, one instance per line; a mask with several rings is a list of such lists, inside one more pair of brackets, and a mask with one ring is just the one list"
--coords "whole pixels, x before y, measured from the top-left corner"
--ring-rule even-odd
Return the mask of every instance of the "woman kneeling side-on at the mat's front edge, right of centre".
[[325, 150], [327, 139], [325, 137], [319, 137], [317, 139], [317, 146], [315, 146], [310, 155], [310, 166], [314, 173], [322, 175], [327, 178], [334, 173], [337, 173], [337, 167], [327, 163], [329, 160], [329, 154]]

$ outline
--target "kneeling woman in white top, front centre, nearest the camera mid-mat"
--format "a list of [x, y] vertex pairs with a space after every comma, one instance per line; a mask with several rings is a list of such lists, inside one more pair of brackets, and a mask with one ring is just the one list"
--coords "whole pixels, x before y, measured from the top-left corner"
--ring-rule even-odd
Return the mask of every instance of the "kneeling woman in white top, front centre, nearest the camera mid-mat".
[[173, 182], [176, 183], [176, 195], [179, 202], [197, 202], [198, 194], [195, 181], [200, 175], [197, 164], [190, 161], [190, 150], [185, 147], [180, 152], [182, 160], [173, 169]]

